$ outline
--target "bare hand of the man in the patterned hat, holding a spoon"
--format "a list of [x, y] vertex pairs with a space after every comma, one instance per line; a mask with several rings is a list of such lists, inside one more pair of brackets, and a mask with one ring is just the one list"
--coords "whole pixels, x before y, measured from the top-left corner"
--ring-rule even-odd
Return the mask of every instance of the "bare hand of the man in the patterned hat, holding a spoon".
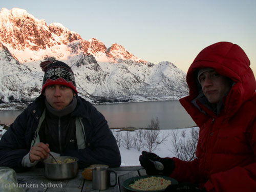
[[49, 144], [48, 143], [37, 143], [35, 146], [32, 146], [29, 154], [29, 160], [33, 163], [35, 160], [44, 160], [49, 158]]

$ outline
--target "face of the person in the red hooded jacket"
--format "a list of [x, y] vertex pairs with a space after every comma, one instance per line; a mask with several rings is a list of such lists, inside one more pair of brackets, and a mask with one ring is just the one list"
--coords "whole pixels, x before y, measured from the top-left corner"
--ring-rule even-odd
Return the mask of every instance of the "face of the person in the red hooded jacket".
[[215, 71], [206, 71], [199, 77], [203, 93], [210, 103], [218, 103], [228, 94], [232, 81]]

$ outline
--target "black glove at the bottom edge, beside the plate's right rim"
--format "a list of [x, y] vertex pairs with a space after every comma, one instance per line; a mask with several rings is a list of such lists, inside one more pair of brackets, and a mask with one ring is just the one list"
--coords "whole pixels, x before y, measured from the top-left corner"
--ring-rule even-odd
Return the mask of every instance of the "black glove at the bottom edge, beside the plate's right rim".
[[206, 192], [205, 188], [197, 188], [193, 183], [180, 183], [169, 185], [164, 190], [165, 192]]

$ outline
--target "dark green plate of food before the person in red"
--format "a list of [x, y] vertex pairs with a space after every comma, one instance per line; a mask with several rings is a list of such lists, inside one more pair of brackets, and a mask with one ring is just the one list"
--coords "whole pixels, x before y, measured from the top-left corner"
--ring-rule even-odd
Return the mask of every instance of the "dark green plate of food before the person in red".
[[145, 175], [126, 179], [123, 187], [132, 191], [164, 191], [168, 185], [178, 184], [178, 181], [161, 175]]

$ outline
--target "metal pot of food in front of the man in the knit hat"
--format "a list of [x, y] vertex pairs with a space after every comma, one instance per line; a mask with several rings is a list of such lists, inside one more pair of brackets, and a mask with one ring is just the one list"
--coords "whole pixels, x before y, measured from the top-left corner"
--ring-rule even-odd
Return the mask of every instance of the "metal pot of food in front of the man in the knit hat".
[[70, 156], [61, 156], [55, 157], [58, 161], [64, 161], [65, 159], [75, 159], [74, 162], [71, 163], [54, 163], [53, 158], [48, 158], [44, 160], [45, 163], [45, 176], [50, 180], [64, 180], [64, 179], [72, 179], [78, 174], [78, 158], [70, 157]]

